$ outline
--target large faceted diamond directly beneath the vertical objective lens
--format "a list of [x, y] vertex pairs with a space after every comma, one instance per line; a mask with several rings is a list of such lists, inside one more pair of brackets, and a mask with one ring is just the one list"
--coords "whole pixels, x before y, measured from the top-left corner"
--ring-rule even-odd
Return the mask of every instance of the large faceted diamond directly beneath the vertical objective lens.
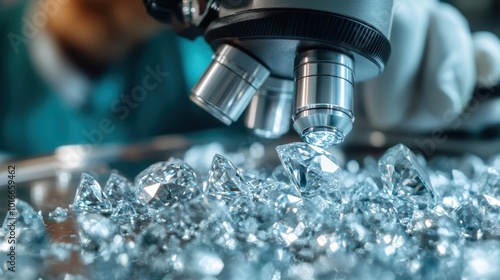
[[276, 147], [283, 167], [303, 193], [318, 188], [333, 189], [340, 183], [340, 168], [333, 155], [307, 143]]

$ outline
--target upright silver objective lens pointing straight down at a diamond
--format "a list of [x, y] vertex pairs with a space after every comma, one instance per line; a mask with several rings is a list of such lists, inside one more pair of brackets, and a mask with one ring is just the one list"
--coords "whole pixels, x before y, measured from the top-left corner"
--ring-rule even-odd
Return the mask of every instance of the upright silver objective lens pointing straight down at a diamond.
[[317, 146], [342, 143], [354, 122], [354, 61], [332, 50], [309, 50], [295, 59], [293, 127]]

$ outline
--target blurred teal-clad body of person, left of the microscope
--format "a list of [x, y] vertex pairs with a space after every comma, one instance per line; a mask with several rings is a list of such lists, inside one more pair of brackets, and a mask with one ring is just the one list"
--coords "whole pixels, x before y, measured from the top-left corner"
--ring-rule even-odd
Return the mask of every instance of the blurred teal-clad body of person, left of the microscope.
[[140, 0], [0, 2], [0, 151], [129, 143], [219, 125], [189, 101], [209, 65]]

